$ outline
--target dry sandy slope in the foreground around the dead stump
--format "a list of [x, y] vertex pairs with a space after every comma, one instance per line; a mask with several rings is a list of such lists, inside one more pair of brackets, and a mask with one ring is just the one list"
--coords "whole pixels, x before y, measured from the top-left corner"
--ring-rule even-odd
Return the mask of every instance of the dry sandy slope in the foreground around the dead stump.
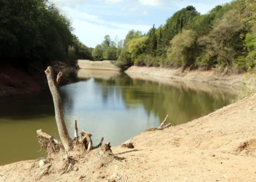
[[[255, 130], [253, 95], [187, 124], [143, 132], [131, 139], [135, 149], [113, 147], [114, 159], [90, 151], [78, 171], [53, 170], [39, 181], [256, 181]], [[37, 181], [44, 169], [35, 162], [30, 171], [33, 164], [1, 166], [0, 181]]]

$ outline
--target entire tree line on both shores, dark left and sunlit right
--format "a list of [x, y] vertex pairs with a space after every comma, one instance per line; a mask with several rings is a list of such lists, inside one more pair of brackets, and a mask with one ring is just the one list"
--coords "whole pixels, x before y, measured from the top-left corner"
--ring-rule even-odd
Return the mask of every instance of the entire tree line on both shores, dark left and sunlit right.
[[86, 47], [71, 20], [48, 0], [0, 0], [0, 62], [45, 63], [78, 59], [117, 60], [116, 65], [238, 68], [256, 65], [256, 0], [236, 0], [200, 15], [188, 6], [147, 33], [131, 30], [124, 40], [106, 35]]

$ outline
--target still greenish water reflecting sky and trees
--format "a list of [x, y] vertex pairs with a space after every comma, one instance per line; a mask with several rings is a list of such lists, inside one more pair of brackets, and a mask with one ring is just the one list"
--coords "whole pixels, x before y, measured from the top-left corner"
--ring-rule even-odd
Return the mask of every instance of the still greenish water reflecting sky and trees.
[[[232, 88], [203, 83], [175, 82], [161, 77], [120, 74], [116, 71], [67, 71], [69, 84], [59, 87], [69, 135], [91, 132], [117, 146], [150, 127], [167, 122], [183, 124], [227, 106]], [[59, 138], [50, 91], [0, 98], [0, 165], [45, 157], [36, 131]], [[39, 151], [39, 152], [37, 152]]]

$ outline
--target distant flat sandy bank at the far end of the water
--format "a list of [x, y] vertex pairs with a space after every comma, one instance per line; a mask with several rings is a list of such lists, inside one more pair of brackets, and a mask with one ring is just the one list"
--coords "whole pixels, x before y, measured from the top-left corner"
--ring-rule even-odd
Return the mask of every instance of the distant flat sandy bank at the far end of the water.
[[110, 60], [91, 61], [91, 60], [78, 60], [78, 66], [81, 69], [101, 69], [118, 71], [119, 68], [114, 66]]

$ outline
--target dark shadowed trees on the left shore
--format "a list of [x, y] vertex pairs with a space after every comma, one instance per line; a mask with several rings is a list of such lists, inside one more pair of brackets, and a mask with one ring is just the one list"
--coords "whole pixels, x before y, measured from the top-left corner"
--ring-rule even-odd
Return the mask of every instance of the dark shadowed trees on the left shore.
[[0, 60], [72, 62], [91, 50], [72, 34], [70, 20], [47, 0], [0, 0]]

